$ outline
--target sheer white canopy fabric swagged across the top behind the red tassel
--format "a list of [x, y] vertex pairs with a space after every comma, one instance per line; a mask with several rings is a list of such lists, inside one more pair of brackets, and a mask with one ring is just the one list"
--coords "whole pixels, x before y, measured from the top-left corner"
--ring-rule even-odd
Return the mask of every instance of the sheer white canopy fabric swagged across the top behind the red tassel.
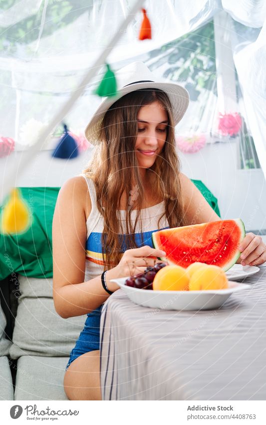
[[[30, 8], [28, 5], [31, 3], [34, 6]], [[72, 5], [72, 9], [67, 14], [69, 16], [77, 14], [79, 9], [81, 12], [69, 24], [57, 28], [52, 15], [53, 8], [49, 9], [49, 6], [58, 5], [59, 13], [61, 3]], [[9, 30], [14, 28], [15, 33], [15, 24], [25, 20], [25, 11], [28, 8], [27, 13], [32, 15], [31, 19], [38, 25], [39, 31], [38, 34], [35, 32], [32, 41], [26, 41], [28, 34], [15, 41], [7, 38], [5, 41], [7, 55], [1, 55], [0, 68], [29, 73], [60, 73], [62, 70], [71, 72], [87, 69], [99, 52], [107, 46], [110, 37], [117, 31], [133, 3], [133, 0], [97, 0], [86, 2], [87, 6], [80, 7], [84, 1], [69, 0], [56, 3], [46, 0], [46, 2], [39, 1], [39, 7], [36, 10], [36, 4], [33, 1], [20, 0], [10, 8], [16, 9], [17, 6], [17, 15], [14, 12], [11, 14], [9, 9], [1, 12], [0, 26]], [[138, 41], [138, 31], [142, 21], [140, 10], [122, 35], [115, 50], [110, 54], [109, 62], [119, 62], [175, 40], [206, 23], [212, 19], [214, 13], [221, 10], [218, 0], [211, 2], [207, 0], [197, 2], [194, 0], [186, 2], [146, 0], [143, 1], [143, 6], [152, 22], [152, 40]], [[67, 17], [67, 15], [64, 17], [63, 11], [62, 8], [62, 19]], [[5, 22], [8, 24], [5, 25]], [[6, 53], [6, 50], [3, 53]], [[5, 58], [8, 60], [6, 61]]]

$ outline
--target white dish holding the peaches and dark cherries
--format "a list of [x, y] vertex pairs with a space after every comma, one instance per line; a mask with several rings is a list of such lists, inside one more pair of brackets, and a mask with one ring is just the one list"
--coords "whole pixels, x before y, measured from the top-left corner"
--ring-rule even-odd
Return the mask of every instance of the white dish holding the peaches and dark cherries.
[[233, 292], [250, 288], [245, 283], [228, 282], [228, 289], [205, 291], [153, 291], [125, 285], [127, 277], [111, 279], [127, 294], [131, 301], [144, 307], [163, 310], [210, 310], [219, 308]]

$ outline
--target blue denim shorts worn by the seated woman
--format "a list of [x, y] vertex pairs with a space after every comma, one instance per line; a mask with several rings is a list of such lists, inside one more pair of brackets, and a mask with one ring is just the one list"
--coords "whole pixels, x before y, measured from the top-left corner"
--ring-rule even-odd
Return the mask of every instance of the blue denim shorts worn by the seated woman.
[[76, 345], [72, 348], [65, 370], [68, 368], [69, 364], [81, 354], [100, 349], [100, 318], [102, 306], [103, 304], [87, 314], [84, 328], [80, 332]]

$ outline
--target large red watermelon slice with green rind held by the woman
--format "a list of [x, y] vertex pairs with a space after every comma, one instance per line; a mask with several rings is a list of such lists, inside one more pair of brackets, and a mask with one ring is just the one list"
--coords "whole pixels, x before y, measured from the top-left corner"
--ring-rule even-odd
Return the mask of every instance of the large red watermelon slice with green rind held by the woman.
[[166, 252], [163, 261], [187, 268], [200, 261], [224, 271], [240, 257], [238, 246], [245, 237], [243, 221], [219, 220], [192, 226], [174, 227], [152, 233], [155, 248]]

